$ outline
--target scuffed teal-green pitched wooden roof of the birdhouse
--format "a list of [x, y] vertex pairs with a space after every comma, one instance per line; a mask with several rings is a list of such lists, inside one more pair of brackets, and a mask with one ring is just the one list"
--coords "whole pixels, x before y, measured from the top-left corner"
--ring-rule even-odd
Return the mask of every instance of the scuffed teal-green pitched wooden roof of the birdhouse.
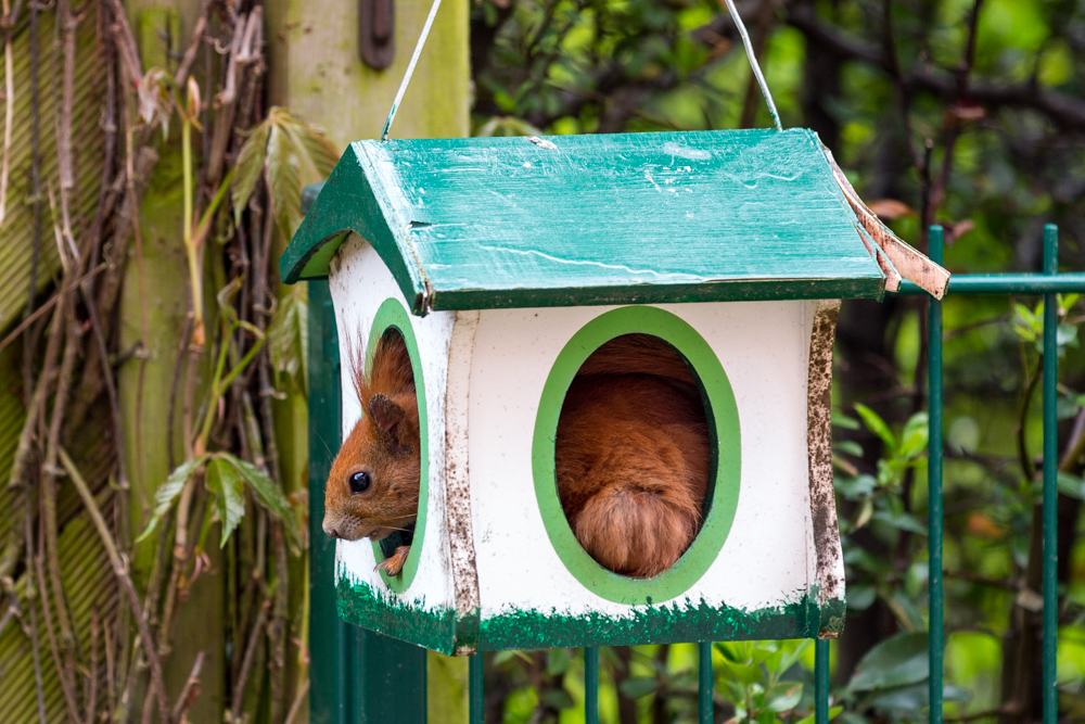
[[283, 280], [327, 277], [346, 231], [416, 314], [880, 299], [885, 284], [806, 129], [359, 141]]

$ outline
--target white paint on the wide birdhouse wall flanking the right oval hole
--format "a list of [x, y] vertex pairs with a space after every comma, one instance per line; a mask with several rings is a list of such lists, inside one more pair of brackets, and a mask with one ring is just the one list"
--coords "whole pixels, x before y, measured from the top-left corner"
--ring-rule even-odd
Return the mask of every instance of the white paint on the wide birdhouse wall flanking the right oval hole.
[[[668, 605], [757, 609], [792, 601], [813, 582], [806, 384], [816, 302], [660, 305], [715, 350], [742, 436], [735, 522], [709, 571]], [[547, 376], [565, 342], [613, 307], [481, 314], [471, 380], [471, 494], [482, 615], [537, 609], [628, 615], [589, 592], [553, 551], [535, 497], [531, 449]]]

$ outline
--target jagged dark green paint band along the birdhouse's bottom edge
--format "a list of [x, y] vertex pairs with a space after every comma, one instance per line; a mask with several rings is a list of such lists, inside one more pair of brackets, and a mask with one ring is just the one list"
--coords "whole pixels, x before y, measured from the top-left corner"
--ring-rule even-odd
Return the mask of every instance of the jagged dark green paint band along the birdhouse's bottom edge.
[[457, 622], [447, 608], [425, 608], [423, 601], [400, 602], [375, 593], [366, 583], [341, 579], [339, 614], [348, 623], [417, 646], [452, 653], [468, 642], [478, 650], [628, 646], [680, 642], [726, 642], [780, 638], [826, 638], [840, 634], [844, 601], [824, 606], [816, 596], [797, 595], [793, 602], [748, 611], [698, 606], [638, 606], [630, 617], [601, 613], [566, 615], [551, 611], [515, 611]]

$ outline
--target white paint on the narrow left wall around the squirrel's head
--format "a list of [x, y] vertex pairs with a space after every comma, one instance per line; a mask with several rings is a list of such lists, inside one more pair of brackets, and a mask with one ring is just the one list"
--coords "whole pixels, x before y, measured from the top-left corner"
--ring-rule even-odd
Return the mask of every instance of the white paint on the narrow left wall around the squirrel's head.
[[[335, 306], [335, 325], [340, 338], [340, 361], [343, 369], [343, 436], [350, 433], [361, 416], [361, 405], [350, 381], [350, 345], [365, 348], [373, 326], [373, 317], [384, 300], [394, 297], [406, 309], [410, 305], [378, 253], [357, 234], [340, 247], [332, 259], [329, 288]], [[335, 547], [336, 577], [365, 582], [373, 590], [385, 592], [390, 597], [418, 601], [426, 609], [452, 606], [449, 570], [448, 532], [445, 524], [445, 380], [448, 365], [448, 344], [456, 315], [435, 312], [425, 317], [410, 315], [411, 329], [418, 342], [425, 383], [426, 418], [429, 429], [423, 433], [429, 440], [429, 497], [425, 533], [418, 561], [418, 573], [404, 594], [396, 594], [384, 585], [374, 570], [376, 559], [369, 538], [340, 541]], [[418, 545], [418, 544], [416, 544]]]

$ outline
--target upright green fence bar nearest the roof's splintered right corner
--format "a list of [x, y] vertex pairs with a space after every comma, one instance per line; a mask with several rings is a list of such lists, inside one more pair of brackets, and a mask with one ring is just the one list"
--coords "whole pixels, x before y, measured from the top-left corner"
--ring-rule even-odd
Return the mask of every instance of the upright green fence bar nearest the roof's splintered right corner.
[[[931, 227], [928, 249], [931, 261], [942, 264], [942, 227]], [[930, 724], [942, 724], [942, 302], [932, 297], [928, 304], [927, 409], [930, 419], [930, 441], [927, 459], [927, 531], [930, 623], [927, 640], [930, 657]]]

